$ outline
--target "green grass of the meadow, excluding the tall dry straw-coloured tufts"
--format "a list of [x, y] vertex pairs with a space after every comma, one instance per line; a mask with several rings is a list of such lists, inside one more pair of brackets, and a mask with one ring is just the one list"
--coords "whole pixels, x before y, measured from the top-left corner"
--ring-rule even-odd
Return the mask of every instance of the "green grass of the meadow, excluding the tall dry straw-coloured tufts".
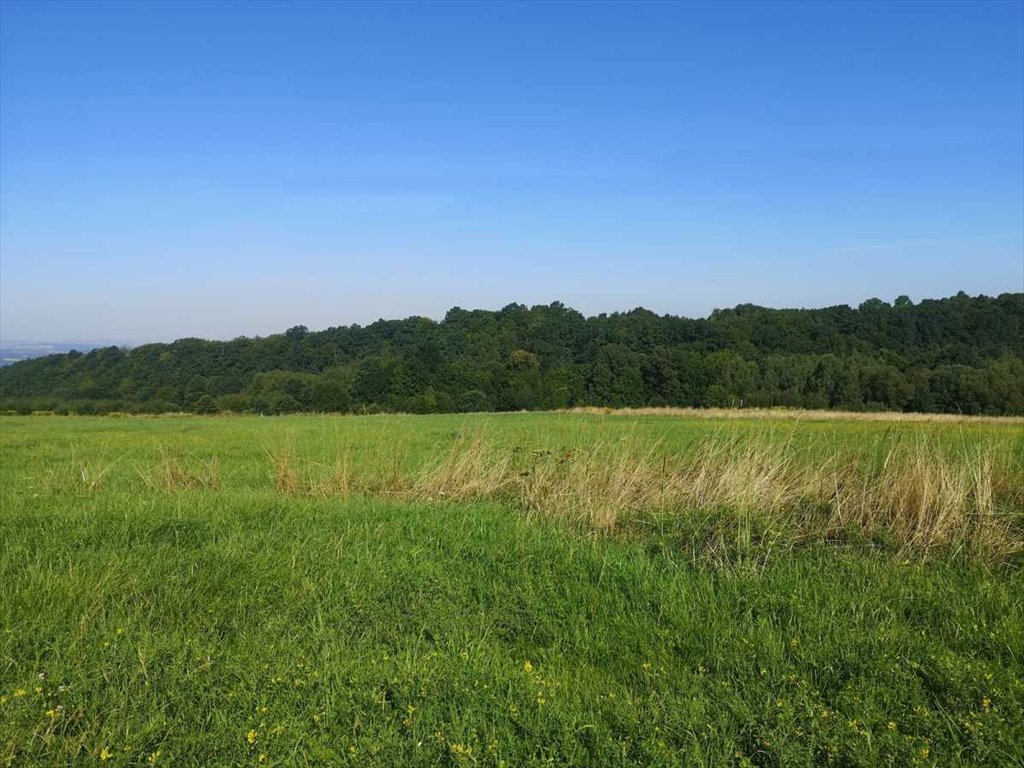
[[[708, 429], [473, 419], [532, 444]], [[826, 548], [712, 570], [500, 505], [272, 490], [288, 434], [426, 461], [466, 421], [4, 419], [0, 762], [1024, 761], [1017, 570]], [[167, 444], [216, 455], [223, 487], [139, 487], [132, 462]], [[95, 493], [52, 486], [73, 452], [110, 468]]]

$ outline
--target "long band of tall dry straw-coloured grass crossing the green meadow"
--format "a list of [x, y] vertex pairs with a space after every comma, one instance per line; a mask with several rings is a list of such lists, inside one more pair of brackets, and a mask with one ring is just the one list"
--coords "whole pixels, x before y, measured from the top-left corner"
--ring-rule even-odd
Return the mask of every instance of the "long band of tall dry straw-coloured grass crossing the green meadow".
[[413, 469], [391, 444], [357, 467], [344, 452], [302, 464], [290, 442], [270, 456], [282, 493], [502, 502], [598, 532], [658, 521], [711, 552], [851, 538], [986, 561], [1024, 550], [1024, 460], [1012, 441], [920, 433], [798, 445], [795, 434], [722, 428], [684, 450], [643, 435], [528, 450], [476, 430]]

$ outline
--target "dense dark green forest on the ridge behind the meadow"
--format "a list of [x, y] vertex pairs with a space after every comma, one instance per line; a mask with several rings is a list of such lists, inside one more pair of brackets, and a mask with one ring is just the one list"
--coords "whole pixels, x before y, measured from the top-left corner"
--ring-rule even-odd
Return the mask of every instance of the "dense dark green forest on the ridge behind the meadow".
[[786, 406], [1024, 414], [1024, 294], [585, 317], [553, 303], [454, 308], [266, 338], [109, 347], [0, 369], [29, 413]]

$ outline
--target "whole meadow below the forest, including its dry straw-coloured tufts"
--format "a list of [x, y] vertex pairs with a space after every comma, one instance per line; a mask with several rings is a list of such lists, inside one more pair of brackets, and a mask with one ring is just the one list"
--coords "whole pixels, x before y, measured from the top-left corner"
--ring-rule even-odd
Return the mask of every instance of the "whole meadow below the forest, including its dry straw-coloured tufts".
[[1024, 765], [1020, 421], [0, 418], [0, 765]]

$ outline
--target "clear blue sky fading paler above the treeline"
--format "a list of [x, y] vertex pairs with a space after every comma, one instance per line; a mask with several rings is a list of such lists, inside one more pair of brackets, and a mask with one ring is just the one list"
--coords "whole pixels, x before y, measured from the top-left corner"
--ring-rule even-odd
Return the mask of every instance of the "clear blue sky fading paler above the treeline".
[[0, 336], [1024, 290], [1024, 4], [0, 3]]

